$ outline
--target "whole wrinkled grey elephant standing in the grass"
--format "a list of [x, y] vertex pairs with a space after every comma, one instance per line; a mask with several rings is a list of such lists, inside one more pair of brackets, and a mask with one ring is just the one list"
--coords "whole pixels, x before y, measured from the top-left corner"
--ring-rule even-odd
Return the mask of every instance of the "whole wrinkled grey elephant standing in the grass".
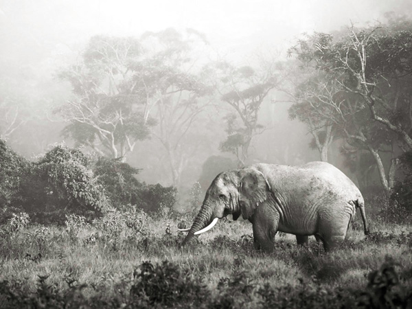
[[314, 235], [329, 251], [345, 240], [357, 207], [367, 234], [361, 192], [329, 163], [253, 164], [216, 176], [183, 245], [214, 218], [242, 214], [253, 225], [256, 249], [273, 251], [275, 234], [282, 231], [295, 234], [298, 244]]

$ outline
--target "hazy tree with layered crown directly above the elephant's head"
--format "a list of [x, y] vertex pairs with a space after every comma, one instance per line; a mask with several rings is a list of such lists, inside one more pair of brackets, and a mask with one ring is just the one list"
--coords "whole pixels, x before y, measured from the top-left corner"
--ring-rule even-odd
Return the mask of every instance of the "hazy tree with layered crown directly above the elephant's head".
[[249, 147], [255, 135], [264, 126], [258, 123], [260, 106], [266, 95], [277, 85], [274, 62], [263, 62], [259, 69], [234, 67], [228, 62], [216, 62], [207, 68], [220, 100], [228, 104], [231, 112], [225, 117], [227, 138], [220, 150], [236, 155], [238, 165], [244, 166], [249, 158]]

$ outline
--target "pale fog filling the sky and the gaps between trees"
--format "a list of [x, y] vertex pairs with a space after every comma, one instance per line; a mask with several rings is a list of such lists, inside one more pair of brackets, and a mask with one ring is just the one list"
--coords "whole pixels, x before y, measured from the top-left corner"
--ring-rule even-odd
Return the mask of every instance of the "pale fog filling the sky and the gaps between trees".
[[[411, 10], [411, 0], [0, 1], [0, 133], [27, 158], [54, 143], [75, 144], [62, 135], [67, 122], [55, 112], [70, 100], [72, 91], [58, 72], [76, 63], [96, 35], [139, 38], [168, 28], [196, 30], [208, 43], [207, 52], [197, 55], [198, 67], [217, 59], [255, 67], [262, 57], [286, 61], [287, 49], [304, 32], [334, 32], [351, 23], [375, 23], [386, 12], [411, 14]], [[127, 162], [142, 169], [139, 179], [189, 188], [201, 177], [209, 157], [236, 161], [233, 153], [219, 149], [227, 137], [225, 116], [233, 111], [218, 102], [219, 95], [211, 101], [193, 120], [190, 134], [176, 141], [172, 155], [179, 181], [168, 166], [170, 153], [164, 144], [169, 137], [161, 135], [159, 123], [151, 128], [150, 139], [137, 141], [128, 155]], [[319, 152], [309, 147], [308, 128], [290, 120], [286, 101], [276, 89], [266, 95], [258, 121], [264, 130], [253, 137], [246, 163], [319, 160]], [[331, 151], [330, 162], [344, 168], [339, 148]]]

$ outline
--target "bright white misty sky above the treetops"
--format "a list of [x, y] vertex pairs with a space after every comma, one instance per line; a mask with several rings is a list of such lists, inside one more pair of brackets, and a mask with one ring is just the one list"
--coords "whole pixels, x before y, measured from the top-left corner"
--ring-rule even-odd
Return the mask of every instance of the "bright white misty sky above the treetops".
[[95, 34], [139, 36], [166, 27], [178, 30], [190, 27], [206, 34], [219, 53], [233, 58], [241, 58], [260, 47], [283, 51], [301, 32], [328, 32], [350, 21], [373, 22], [385, 12], [411, 12], [412, 8], [412, 0], [3, 0], [0, 3], [2, 32], [10, 30], [1, 39], [3, 43], [15, 44], [27, 40], [27, 44], [18, 44], [19, 48], [34, 44], [58, 51], [87, 41]]

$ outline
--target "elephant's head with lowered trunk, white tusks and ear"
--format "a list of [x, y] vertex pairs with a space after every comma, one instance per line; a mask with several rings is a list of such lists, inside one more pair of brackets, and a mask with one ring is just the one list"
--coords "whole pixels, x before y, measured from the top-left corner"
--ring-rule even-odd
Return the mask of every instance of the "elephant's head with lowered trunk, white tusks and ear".
[[255, 169], [229, 170], [218, 174], [207, 189], [192, 227], [180, 229], [188, 232], [183, 245], [194, 235], [214, 227], [218, 219], [229, 214], [232, 214], [233, 220], [242, 214], [242, 218], [252, 222], [256, 206], [266, 200], [270, 189], [264, 174]]

